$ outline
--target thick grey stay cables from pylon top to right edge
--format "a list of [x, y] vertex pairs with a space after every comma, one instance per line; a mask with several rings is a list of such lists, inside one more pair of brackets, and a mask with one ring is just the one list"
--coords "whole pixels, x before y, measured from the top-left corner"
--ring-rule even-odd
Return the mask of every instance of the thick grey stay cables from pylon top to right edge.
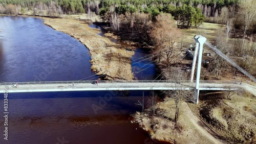
[[240, 70], [244, 75], [249, 77], [252, 81], [256, 82], [256, 78], [253, 77], [251, 74], [249, 74], [245, 69], [243, 69], [241, 66], [239, 66], [237, 63], [235, 63], [233, 60], [228, 58], [225, 54], [223, 54], [220, 50], [218, 50], [214, 45], [210, 44], [208, 41], [205, 42], [205, 45], [210, 47], [212, 51], [214, 51], [216, 54], [220, 55], [224, 60], [228, 61], [231, 65], [236, 67], [238, 70]]

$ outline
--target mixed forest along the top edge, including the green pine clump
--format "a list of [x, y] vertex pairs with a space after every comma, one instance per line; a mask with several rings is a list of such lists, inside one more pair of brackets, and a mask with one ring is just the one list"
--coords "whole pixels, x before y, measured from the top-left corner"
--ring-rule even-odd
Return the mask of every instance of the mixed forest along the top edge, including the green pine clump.
[[[160, 12], [170, 13], [182, 27], [198, 24], [205, 17], [218, 16], [222, 7], [237, 5], [240, 0], [0, 0], [0, 13], [23, 14], [25, 10], [40, 15], [47, 11], [48, 16], [60, 14], [89, 15], [100, 14], [103, 18], [107, 13], [149, 13], [152, 17]], [[203, 14], [203, 15], [201, 15]]]

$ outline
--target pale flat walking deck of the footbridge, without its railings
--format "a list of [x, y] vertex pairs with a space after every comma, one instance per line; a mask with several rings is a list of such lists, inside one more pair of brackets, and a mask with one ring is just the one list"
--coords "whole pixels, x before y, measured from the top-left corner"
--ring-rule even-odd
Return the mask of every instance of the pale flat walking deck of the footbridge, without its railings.
[[[195, 89], [194, 83], [167, 83], [167, 82], [122, 82], [122, 83], [18, 83], [17, 88], [14, 83], [0, 83], [0, 93], [8, 87], [8, 92], [47, 92], [47, 91], [95, 91], [95, 90], [177, 90]], [[200, 90], [236, 90], [240, 88], [239, 84], [218, 84], [201, 83]]]

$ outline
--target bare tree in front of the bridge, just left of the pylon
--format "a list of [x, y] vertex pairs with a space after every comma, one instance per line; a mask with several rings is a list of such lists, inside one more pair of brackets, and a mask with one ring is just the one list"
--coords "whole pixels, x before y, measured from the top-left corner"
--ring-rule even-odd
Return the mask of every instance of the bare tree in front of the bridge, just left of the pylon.
[[183, 102], [194, 101], [193, 92], [191, 90], [186, 90], [187, 85], [183, 84], [184, 80], [188, 80], [187, 74], [182, 70], [168, 70], [165, 73], [165, 77], [168, 80], [174, 81], [175, 90], [167, 90], [165, 94], [168, 98], [172, 98], [175, 102], [175, 123], [178, 122], [180, 115], [180, 107]]

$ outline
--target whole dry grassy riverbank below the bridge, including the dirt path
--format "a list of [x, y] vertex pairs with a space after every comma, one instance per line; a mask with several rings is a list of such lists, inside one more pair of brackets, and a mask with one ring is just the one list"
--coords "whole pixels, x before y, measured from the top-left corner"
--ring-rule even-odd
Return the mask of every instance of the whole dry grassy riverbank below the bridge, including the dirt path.
[[[206, 91], [205, 91], [206, 92]], [[199, 104], [183, 102], [178, 123], [175, 103], [165, 98], [152, 109], [136, 112], [137, 123], [151, 137], [172, 143], [255, 143], [255, 97], [250, 93], [202, 93]]]

